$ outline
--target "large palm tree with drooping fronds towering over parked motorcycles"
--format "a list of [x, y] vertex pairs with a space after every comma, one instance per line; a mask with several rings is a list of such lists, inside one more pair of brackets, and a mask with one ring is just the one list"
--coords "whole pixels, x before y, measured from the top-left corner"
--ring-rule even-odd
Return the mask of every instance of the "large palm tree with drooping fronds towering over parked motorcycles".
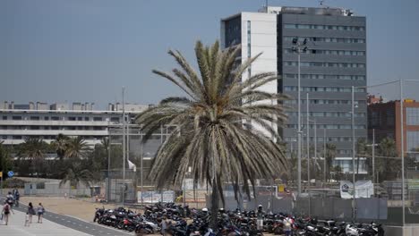
[[[238, 47], [221, 51], [218, 41], [212, 46], [198, 41], [195, 55], [200, 73], [180, 52], [168, 51], [180, 68], [173, 70], [174, 75], [153, 72], [175, 83], [187, 97], [167, 97], [136, 119], [146, 132], [144, 140], [161, 124], [177, 127], [159, 147], [149, 177], [158, 188], [178, 187], [191, 168], [195, 183], [206, 182], [212, 188], [213, 215], [217, 215], [219, 198], [224, 203], [223, 181], [233, 183], [236, 199], [241, 194], [240, 184], [250, 197], [255, 179], [274, 179], [286, 170], [285, 153], [272, 141], [279, 137], [270, 125], [286, 119], [283, 105], [277, 104], [286, 97], [258, 90], [278, 77], [266, 72], [242, 80], [259, 55], [237, 66], [238, 51]], [[252, 122], [244, 125], [244, 121]], [[268, 135], [248, 129], [252, 125], [261, 126]], [[212, 217], [211, 225], [216, 223], [217, 218]]]

